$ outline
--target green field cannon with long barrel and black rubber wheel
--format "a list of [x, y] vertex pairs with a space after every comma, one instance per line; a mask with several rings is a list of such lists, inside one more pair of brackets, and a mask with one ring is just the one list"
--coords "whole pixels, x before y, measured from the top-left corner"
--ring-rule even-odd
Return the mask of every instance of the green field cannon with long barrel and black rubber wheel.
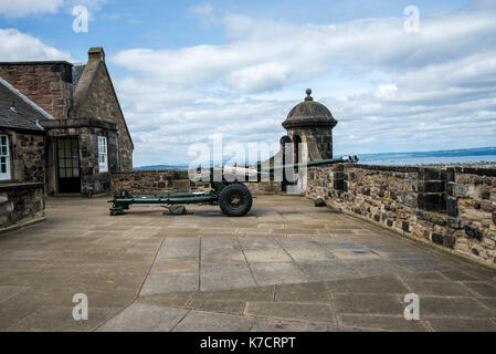
[[[210, 186], [212, 190], [204, 192], [177, 192], [152, 196], [131, 196], [128, 191], [120, 191], [114, 195], [110, 215], [124, 214], [131, 205], [158, 205], [169, 208], [173, 205], [219, 205], [221, 210], [230, 217], [241, 217], [246, 215], [252, 208], [252, 194], [243, 183], [258, 183], [266, 177], [274, 177], [275, 171], [284, 169], [294, 169], [299, 167], [320, 166], [339, 163], [357, 163], [356, 155], [348, 157], [339, 157], [333, 159], [323, 159], [317, 162], [308, 162], [300, 164], [289, 164], [279, 166], [268, 166], [264, 168], [258, 162], [255, 168], [223, 166], [219, 167], [220, 181], [217, 181], [215, 167], [209, 170]], [[246, 179], [247, 177], [247, 179]]]

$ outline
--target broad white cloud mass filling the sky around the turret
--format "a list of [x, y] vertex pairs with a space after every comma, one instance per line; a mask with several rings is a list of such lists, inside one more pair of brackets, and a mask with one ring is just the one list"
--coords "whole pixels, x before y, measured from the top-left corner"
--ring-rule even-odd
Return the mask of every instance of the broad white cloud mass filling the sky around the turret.
[[228, 14], [222, 23], [232, 39], [223, 45], [112, 58], [133, 72], [117, 90], [137, 165], [187, 162], [188, 144], [215, 132], [226, 142], [278, 140], [310, 83], [339, 121], [336, 153], [494, 145], [492, 11], [421, 18], [419, 33], [407, 33], [402, 18], [296, 25]]

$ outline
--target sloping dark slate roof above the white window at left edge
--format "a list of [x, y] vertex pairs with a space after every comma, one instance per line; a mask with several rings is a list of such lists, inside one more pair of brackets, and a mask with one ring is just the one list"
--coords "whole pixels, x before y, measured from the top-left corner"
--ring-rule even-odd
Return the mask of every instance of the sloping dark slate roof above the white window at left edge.
[[43, 131], [45, 119], [53, 117], [0, 77], [0, 127]]

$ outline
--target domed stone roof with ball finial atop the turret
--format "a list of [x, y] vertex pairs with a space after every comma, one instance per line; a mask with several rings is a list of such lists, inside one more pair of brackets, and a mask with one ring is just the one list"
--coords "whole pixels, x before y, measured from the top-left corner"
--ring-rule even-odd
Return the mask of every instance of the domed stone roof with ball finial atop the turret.
[[338, 123], [330, 111], [321, 103], [315, 102], [310, 96], [312, 90], [307, 88], [305, 101], [298, 103], [291, 110], [286, 121], [283, 122], [284, 128], [329, 126], [334, 127]]

